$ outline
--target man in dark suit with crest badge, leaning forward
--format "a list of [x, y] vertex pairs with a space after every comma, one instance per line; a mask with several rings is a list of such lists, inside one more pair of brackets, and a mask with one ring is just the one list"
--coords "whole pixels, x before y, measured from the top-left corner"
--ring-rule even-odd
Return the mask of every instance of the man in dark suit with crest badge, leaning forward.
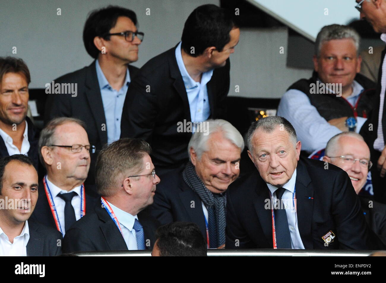
[[300, 159], [301, 142], [283, 117], [254, 122], [248, 154], [258, 172], [227, 193], [226, 248], [377, 249], [347, 173]]

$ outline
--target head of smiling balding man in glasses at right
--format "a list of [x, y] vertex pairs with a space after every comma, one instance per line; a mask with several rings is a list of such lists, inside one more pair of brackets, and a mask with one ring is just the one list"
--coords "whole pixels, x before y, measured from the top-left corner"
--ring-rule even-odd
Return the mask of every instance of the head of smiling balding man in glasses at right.
[[360, 134], [342, 132], [332, 137], [327, 142], [323, 161], [346, 171], [355, 192], [359, 194], [371, 167], [370, 150]]

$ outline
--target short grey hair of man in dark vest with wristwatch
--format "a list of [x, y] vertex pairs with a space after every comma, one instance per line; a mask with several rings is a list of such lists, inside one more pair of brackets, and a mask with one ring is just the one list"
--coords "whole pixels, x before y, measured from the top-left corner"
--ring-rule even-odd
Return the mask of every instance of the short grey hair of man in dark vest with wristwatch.
[[357, 50], [357, 56], [359, 55], [359, 43], [360, 37], [359, 34], [354, 30], [354, 28], [347, 25], [326, 25], [322, 27], [320, 32], [317, 35], [315, 41], [315, 55], [320, 56], [320, 50], [322, 49], [322, 44], [326, 41], [333, 39], [352, 39], [354, 40], [355, 48]]

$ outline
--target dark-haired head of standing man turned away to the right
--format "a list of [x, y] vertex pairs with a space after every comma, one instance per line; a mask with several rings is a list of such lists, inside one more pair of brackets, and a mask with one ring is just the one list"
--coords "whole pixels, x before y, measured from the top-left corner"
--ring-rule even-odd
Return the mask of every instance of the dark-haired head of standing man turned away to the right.
[[239, 37], [240, 29], [225, 9], [212, 4], [201, 5], [185, 22], [181, 49], [192, 57], [204, 56], [212, 69], [223, 67]]

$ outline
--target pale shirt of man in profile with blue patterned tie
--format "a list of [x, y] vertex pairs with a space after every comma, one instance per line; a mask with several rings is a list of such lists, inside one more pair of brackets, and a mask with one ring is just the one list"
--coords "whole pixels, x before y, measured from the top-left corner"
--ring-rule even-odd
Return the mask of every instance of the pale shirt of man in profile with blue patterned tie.
[[[109, 203], [111, 209], [113, 210], [115, 216], [117, 216], [119, 225], [122, 229], [123, 238], [125, 240], [128, 250], [138, 250], [137, 238], [134, 229], [135, 219], [138, 220], [138, 216], [132, 216], [130, 213], [123, 211], [122, 209], [117, 208], [115, 205]], [[145, 239], [146, 241], [146, 239]], [[146, 244], [146, 243], [145, 243]]]

